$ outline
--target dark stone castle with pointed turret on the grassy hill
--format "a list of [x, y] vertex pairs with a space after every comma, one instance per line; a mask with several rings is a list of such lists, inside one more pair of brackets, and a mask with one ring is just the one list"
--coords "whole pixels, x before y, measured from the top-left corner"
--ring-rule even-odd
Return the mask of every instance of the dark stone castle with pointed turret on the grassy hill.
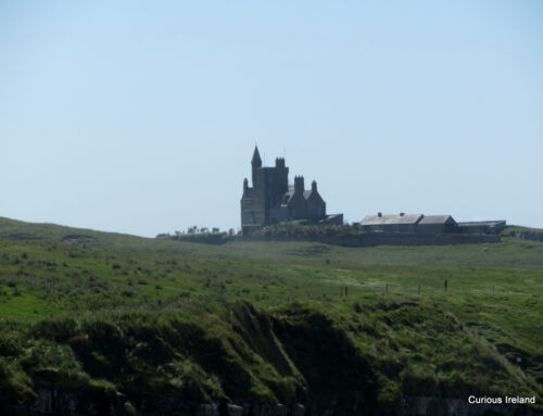
[[304, 220], [305, 223], [343, 223], [341, 214], [326, 215], [326, 202], [317, 191], [314, 180], [311, 190], [305, 190], [304, 177], [295, 176], [294, 185], [289, 185], [289, 168], [285, 159], [277, 157], [275, 167], [262, 166], [258, 148], [254, 148], [252, 165], [252, 187], [243, 180], [241, 197], [241, 227], [251, 227], [285, 222]]

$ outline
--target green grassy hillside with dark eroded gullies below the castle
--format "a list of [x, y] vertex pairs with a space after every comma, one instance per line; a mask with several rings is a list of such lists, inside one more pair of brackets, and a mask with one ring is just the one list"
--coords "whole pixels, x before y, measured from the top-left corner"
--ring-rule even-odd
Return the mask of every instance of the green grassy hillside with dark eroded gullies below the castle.
[[146, 394], [349, 414], [471, 393], [541, 406], [542, 294], [543, 243], [513, 237], [204, 245], [0, 218], [0, 407], [48, 386], [126, 394], [140, 413]]

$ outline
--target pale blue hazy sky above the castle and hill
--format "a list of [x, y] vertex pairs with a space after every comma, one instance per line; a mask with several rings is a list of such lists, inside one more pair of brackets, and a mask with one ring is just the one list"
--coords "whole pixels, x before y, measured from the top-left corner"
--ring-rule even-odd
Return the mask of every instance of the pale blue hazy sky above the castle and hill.
[[350, 222], [543, 227], [543, 2], [0, 0], [0, 216], [238, 228], [255, 142]]

